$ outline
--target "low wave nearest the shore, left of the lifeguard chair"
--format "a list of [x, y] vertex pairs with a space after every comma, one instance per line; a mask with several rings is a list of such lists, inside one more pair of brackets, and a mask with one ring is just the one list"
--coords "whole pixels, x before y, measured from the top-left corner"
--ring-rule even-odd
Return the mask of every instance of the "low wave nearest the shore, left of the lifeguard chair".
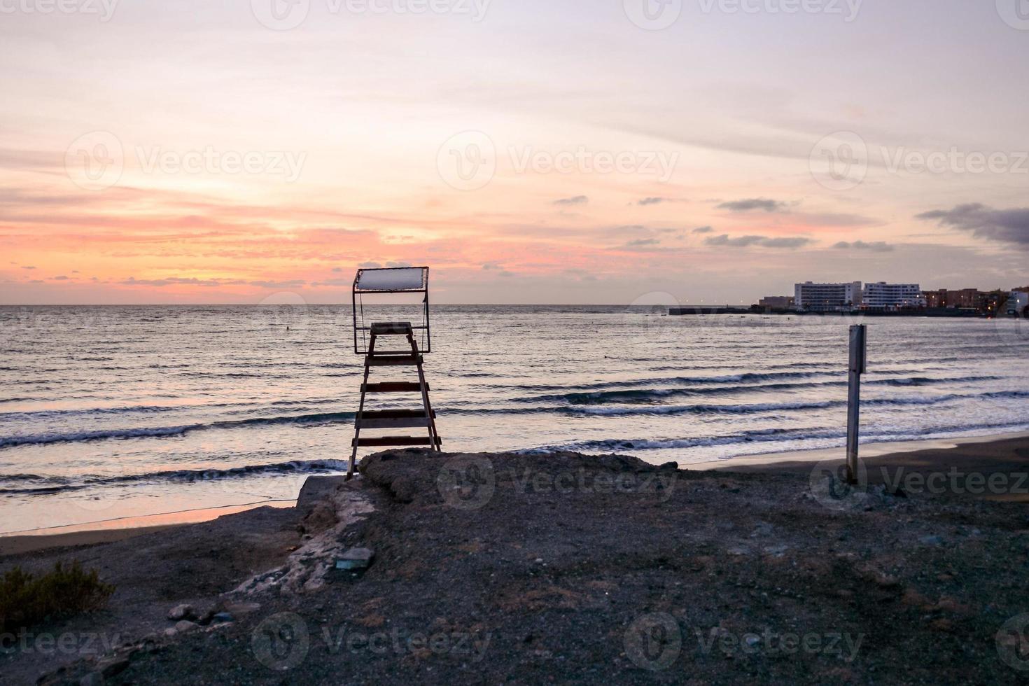
[[0, 474], [0, 482], [34, 481], [32, 486], [2, 488], [4, 495], [46, 495], [78, 491], [103, 485], [138, 482], [192, 483], [197, 481], [217, 481], [247, 476], [277, 476], [284, 474], [335, 473], [347, 471], [346, 460], [292, 460], [270, 465], [246, 465], [227, 469], [176, 469], [142, 474], [117, 474], [113, 476], [83, 476], [71, 480], [60, 476], [37, 476], [34, 474]]

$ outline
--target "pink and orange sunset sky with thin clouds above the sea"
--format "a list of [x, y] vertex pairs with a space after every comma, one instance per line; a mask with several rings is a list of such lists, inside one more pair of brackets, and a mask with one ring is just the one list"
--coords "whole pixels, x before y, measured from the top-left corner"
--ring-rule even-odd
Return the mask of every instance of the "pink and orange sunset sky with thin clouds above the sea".
[[1029, 0], [0, 0], [0, 303], [1029, 284]]

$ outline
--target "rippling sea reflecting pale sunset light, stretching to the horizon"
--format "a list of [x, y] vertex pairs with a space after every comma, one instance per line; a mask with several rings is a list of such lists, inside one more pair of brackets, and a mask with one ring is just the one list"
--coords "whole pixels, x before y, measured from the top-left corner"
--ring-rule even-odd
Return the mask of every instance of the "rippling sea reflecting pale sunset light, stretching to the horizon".
[[[448, 452], [688, 466], [841, 447], [857, 323], [862, 442], [1029, 431], [1024, 320], [438, 305], [430, 322]], [[363, 374], [353, 323], [350, 304], [0, 308], [0, 533], [289, 501], [309, 475], [346, 471]]]

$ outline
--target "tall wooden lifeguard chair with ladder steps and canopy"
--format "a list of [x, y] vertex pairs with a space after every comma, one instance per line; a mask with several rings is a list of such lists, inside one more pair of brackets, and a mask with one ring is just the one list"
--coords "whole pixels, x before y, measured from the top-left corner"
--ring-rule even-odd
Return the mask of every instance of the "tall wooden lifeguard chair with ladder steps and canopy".
[[[366, 324], [364, 320], [364, 295], [421, 294], [419, 310], [422, 315], [420, 325], [407, 321], [380, 321]], [[412, 266], [385, 269], [358, 269], [354, 278], [352, 297], [354, 309], [354, 353], [364, 355], [364, 380], [361, 383], [361, 404], [354, 420], [353, 450], [350, 455], [350, 469], [347, 477], [354, 474], [357, 448], [389, 445], [428, 445], [430, 449], [441, 450], [442, 441], [436, 433], [436, 413], [429, 402], [429, 385], [425, 381], [423, 354], [432, 352], [432, 332], [429, 324], [429, 267]], [[377, 309], [377, 311], [380, 309]], [[383, 350], [380, 338], [405, 339], [399, 350]], [[419, 348], [418, 340], [422, 341]], [[371, 370], [379, 367], [415, 367], [417, 382], [369, 383]], [[369, 394], [418, 393], [421, 396], [420, 409], [365, 409]], [[362, 430], [424, 428], [426, 436], [361, 436]]]

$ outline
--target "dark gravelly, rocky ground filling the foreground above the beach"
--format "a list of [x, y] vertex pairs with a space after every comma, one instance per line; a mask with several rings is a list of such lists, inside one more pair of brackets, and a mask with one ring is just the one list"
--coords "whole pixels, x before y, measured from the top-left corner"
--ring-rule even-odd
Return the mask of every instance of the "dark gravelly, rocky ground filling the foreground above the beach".
[[[349, 483], [312, 480], [295, 511], [155, 534], [171, 548], [140, 552], [151, 567], [128, 585], [111, 561], [132, 557], [132, 546], [159, 550], [157, 541], [76, 551], [119, 585], [112, 610], [77, 625], [110, 630], [135, 604], [125, 645], [60, 670], [15, 651], [3, 680], [1029, 679], [1024, 504], [617, 456], [398, 450], [361, 471]], [[236, 538], [213, 543], [219, 527]], [[182, 536], [199, 538], [191, 548], [167, 542]], [[180, 604], [192, 607], [168, 619]]]

